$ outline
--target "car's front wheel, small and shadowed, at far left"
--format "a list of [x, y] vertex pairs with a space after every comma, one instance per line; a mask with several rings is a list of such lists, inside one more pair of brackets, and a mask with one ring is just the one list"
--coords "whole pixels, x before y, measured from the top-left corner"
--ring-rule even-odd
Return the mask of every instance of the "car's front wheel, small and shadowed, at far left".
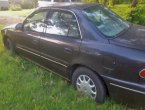
[[15, 45], [9, 38], [6, 39], [5, 46], [11, 54], [15, 54]]

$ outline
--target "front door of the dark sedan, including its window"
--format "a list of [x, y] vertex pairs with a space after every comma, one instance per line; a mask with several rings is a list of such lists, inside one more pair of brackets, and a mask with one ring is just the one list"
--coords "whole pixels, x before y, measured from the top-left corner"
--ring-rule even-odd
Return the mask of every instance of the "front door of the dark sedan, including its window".
[[16, 47], [20, 53], [34, 61], [39, 61], [40, 37], [44, 36], [46, 16], [47, 10], [34, 12], [25, 20], [23, 30], [17, 32]]

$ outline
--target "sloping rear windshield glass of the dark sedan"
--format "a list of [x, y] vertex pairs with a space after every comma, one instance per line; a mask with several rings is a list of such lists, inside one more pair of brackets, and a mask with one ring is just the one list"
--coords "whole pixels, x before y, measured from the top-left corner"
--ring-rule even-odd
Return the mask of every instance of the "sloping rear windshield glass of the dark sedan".
[[115, 37], [129, 28], [129, 23], [103, 6], [89, 7], [83, 10], [83, 14], [108, 38]]

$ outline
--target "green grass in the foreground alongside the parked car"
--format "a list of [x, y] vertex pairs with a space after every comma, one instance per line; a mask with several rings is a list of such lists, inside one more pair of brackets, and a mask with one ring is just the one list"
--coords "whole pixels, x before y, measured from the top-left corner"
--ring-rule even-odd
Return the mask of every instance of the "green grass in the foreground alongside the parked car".
[[[0, 25], [0, 30], [3, 26]], [[64, 79], [5, 50], [0, 36], [0, 110], [126, 110], [98, 105]]]

